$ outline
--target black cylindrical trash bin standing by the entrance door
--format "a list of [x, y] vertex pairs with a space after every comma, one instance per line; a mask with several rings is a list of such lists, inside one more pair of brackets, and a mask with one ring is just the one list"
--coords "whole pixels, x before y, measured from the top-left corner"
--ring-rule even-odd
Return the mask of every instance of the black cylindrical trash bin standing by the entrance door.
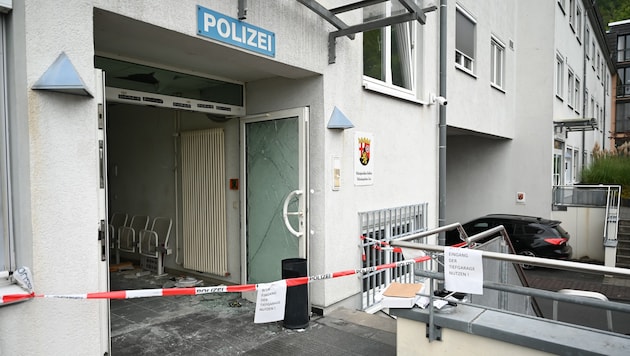
[[[305, 258], [287, 258], [282, 260], [282, 279], [306, 277]], [[308, 284], [288, 287], [284, 306], [284, 327], [304, 329], [308, 326]]]

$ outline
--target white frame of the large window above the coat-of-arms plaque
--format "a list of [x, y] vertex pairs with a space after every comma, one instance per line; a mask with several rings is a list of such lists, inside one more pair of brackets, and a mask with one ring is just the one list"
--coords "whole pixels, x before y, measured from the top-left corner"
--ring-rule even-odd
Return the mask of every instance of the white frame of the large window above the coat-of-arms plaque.
[[[382, 4], [373, 5], [373, 6], [383, 7], [384, 16], [389, 16], [389, 14], [391, 14], [392, 12], [392, 4], [389, 1]], [[365, 16], [366, 14], [364, 13], [364, 17]], [[418, 52], [418, 48], [421, 48], [421, 46], [417, 45], [417, 41], [419, 38], [418, 25], [416, 21], [404, 22], [398, 25], [403, 27], [404, 30], [409, 33], [409, 38], [408, 38], [409, 46], [407, 47], [407, 50], [408, 50], [407, 56], [409, 57], [409, 68], [406, 68], [406, 70], [408, 70], [409, 72], [409, 84], [411, 86], [411, 89], [405, 88], [404, 86], [396, 85], [393, 82], [394, 75], [392, 73], [392, 56], [391, 56], [391, 49], [392, 49], [392, 42], [393, 42], [392, 26], [397, 26], [397, 25], [386, 26], [386, 27], [372, 30], [372, 31], [380, 31], [381, 32], [380, 39], [384, 40], [381, 43], [381, 47], [380, 47], [380, 51], [381, 51], [380, 65], [381, 65], [381, 72], [382, 72], [381, 75], [384, 78], [383, 79], [374, 78], [367, 75], [365, 67], [363, 67], [362, 69], [363, 88], [366, 90], [378, 92], [381, 94], [420, 103], [420, 101], [417, 98], [417, 77], [416, 77], [419, 71], [417, 52]], [[362, 59], [365, 65], [365, 59], [366, 59], [365, 47], [364, 47], [364, 53], [362, 55]]]

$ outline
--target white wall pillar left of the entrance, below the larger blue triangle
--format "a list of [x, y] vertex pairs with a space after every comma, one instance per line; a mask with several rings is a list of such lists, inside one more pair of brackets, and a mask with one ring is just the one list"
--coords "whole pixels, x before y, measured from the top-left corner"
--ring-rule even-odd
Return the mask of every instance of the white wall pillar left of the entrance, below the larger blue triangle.
[[[50, 16], [55, 13], [56, 15]], [[18, 202], [17, 264], [29, 266], [36, 293], [81, 293], [103, 290], [99, 271], [97, 103], [86, 97], [29, 91], [65, 51], [88, 88], [95, 92], [89, 4], [16, 2], [11, 13], [15, 41], [10, 59], [12, 120], [27, 123], [22, 140], [24, 160], [14, 181], [30, 191], [30, 202]], [[80, 19], [80, 21], [77, 21]], [[63, 23], [64, 26], [57, 26]], [[51, 30], [54, 28], [55, 30]], [[13, 51], [15, 50], [15, 51]], [[28, 61], [28, 64], [26, 62]], [[26, 170], [24, 170], [26, 169]], [[30, 211], [28, 209], [30, 207]], [[27, 229], [22, 229], [28, 226]], [[32, 241], [22, 244], [21, 240]], [[103, 354], [105, 301], [79, 302], [37, 298], [0, 310], [2, 354]], [[71, 332], [70, 332], [71, 331]], [[91, 340], [80, 342], [77, 340]]]

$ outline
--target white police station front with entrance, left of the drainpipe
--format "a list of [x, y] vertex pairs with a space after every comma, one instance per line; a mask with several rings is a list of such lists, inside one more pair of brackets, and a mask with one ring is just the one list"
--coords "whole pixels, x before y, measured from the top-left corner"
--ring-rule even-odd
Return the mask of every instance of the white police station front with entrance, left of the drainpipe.
[[[335, 27], [317, 13], [239, 3], [1, 3], [0, 269], [28, 267], [37, 295], [107, 291], [119, 249], [102, 227], [114, 212], [170, 218], [166, 270], [227, 284], [280, 279], [285, 258], [306, 259], [311, 275], [360, 268], [359, 212], [424, 204], [436, 225], [438, 111], [426, 103], [437, 91], [436, 13], [399, 26], [400, 37], [383, 32], [404, 44], [393, 71], [404, 74], [390, 75], [384, 56], [384, 75], [368, 78], [360, 32], [337, 38], [329, 63]], [[363, 13], [340, 18], [361, 23]], [[192, 179], [202, 164], [186, 161], [190, 151], [212, 162]], [[282, 219], [290, 194], [297, 236]], [[199, 201], [208, 204], [187, 205]], [[204, 232], [219, 240], [189, 239], [199, 211], [222, 224]], [[360, 306], [357, 278], [309, 288], [314, 308]], [[0, 334], [2, 354], [104, 354], [108, 302], [6, 304]]]

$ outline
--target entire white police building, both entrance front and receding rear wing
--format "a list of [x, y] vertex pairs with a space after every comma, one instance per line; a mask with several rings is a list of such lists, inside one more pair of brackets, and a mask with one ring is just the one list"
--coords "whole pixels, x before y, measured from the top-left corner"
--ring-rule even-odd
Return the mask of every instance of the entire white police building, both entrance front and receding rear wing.
[[[610, 127], [592, 3], [367, 5], [0, 1], [0, 270], [107, 291], [118, 258], [146, 262], [115, 213], [167, 218], [154, 263], [231, 285], [364, 267], [361, 237], [550, 215]], [[366, 285], [322, 278], [310, 306], [361, 308]], [[0, 353], [105, 354], [109, 328], [106, 300], [3, 302]]]

